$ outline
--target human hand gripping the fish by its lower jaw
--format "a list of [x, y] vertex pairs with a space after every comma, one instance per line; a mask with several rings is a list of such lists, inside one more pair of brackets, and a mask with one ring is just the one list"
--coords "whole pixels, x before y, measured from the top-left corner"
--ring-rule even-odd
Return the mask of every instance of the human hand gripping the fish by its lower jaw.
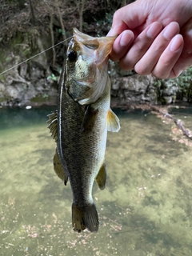
[[119, 9], [108, 34], [119, 34], [110, 58], [138, 74], [177, 77], [192, 65], [191, 7], [191, 0], [137, 0]]

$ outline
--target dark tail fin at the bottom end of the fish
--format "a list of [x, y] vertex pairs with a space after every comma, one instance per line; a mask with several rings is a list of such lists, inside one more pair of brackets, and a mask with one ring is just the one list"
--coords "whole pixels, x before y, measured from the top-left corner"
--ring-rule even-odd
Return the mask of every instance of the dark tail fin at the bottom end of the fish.
[[96, 206], [90, 204], [85, 207], [79, 207], [72, 203], [72, 225], [74, 231], [80, 233], [82, 230], [90, 230], [90, 232], [98, 231], [98, 211]]

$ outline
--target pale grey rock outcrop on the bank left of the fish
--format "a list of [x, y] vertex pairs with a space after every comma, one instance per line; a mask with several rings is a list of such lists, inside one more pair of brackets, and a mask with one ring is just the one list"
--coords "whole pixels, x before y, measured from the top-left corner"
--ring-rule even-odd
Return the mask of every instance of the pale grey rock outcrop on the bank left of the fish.
[[46, 69], [39, 62], [10, 70], [0, 82], [0, 105], [56, 104], [57, 83], [47, 77]]

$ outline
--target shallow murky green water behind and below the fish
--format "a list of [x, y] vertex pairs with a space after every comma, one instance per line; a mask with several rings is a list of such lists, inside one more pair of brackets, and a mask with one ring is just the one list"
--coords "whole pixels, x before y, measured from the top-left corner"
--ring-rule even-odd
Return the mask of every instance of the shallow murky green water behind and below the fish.
[[[101, 225], [97, 234], [77, 234], [70, 185], [52, 166], [49, 113], [0, 109], [0, 255], [192, 254], [192, 147], [173, 140], [173, 123], [118, 111], [106, 190], [93, 190]], [[192, 112], [179, 116], [192, 129]]]

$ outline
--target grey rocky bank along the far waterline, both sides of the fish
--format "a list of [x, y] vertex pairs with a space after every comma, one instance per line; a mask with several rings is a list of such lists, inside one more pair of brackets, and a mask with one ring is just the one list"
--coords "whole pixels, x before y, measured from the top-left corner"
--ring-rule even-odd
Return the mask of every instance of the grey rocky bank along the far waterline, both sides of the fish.
[[[110, 62], [111, 105], [170, 104], [178, 95], [182, 101], [190, 102], [191, 77], [187, 72], [190, 71], [180, 78], [161, 80], [152, 75], [141, 76], [134, 70], [120, 70], [117, 63]], [[46, 57], [17, 66], [0, 79], [0, 106], [56, 105], [58, 80], [59, 73], [51, 73]]]

